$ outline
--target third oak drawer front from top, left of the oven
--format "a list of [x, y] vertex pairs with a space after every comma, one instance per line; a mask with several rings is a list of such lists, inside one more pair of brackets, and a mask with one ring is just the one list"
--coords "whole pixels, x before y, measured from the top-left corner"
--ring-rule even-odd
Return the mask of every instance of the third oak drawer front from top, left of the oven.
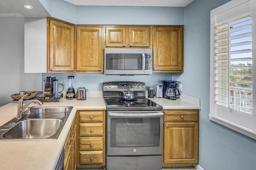
[[103, 137], [82, 137], [79, 139], [80, 150], [103, 150]]

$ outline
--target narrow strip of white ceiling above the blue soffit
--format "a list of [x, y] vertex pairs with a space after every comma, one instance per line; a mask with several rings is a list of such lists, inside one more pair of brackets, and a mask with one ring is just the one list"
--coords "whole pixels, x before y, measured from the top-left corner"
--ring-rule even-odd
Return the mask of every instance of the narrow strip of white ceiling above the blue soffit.
[[194, 0], [64, 0], [80, 6], [172, 6], [184, 7]]

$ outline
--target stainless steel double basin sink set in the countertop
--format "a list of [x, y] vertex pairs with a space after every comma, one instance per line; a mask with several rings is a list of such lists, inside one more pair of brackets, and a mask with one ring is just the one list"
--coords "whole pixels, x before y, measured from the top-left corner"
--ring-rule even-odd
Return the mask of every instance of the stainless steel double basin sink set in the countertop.
[[20, 120], [14, 118], [0, 127], [0, 140], [56, 140], [72, 108], [30, 107]]

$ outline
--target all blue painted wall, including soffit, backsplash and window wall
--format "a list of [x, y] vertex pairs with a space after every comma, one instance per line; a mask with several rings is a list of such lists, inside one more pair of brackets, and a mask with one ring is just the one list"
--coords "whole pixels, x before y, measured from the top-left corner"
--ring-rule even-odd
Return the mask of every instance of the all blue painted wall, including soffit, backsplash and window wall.
[[[185, 25], [184, 72], [154, 73], [149, 76], [109, 76], [100, 73], [74, 73], [76, 87], [102, 90], [102, 82], [142, 81], [146, 86], [161, 80], [182, 82], [183, 93], [202, 99], [199, 130], [199, 164], [205, 170], [255, 170], [256, 140], [209, 120], [210, 93], [210, 10], [230, 0], [194, 0], [185, 8], [171, 7], [76, 7], [53, 0], [52, 17], [76, 24]], [[58, 5], [59, 4], [59, 5]], [[61, 6], [63, 8], [57, 8]], [[70, 11], [65, 9], [71, 6]], [[75, 11], [75, 12], [74, 12]], [[124, 16], [116, 13], [130, 13]], [[74, 16], [75, 15], [75, 16]], [[141, 17], [139, 17], [141, 16]], [[73, 18], [74, 17], [74, 18]], [[68, 73], [56, 76], [64, 83]]]

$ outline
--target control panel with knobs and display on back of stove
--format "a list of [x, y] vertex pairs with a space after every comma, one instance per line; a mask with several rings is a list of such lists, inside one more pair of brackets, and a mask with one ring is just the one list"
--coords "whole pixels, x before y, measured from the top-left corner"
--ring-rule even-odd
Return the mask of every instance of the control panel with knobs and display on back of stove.
[[124, 91], [130, 89], [132, 91], [145, 91], [144, 82], [105, 82], [103, 83], [103, 91]]

